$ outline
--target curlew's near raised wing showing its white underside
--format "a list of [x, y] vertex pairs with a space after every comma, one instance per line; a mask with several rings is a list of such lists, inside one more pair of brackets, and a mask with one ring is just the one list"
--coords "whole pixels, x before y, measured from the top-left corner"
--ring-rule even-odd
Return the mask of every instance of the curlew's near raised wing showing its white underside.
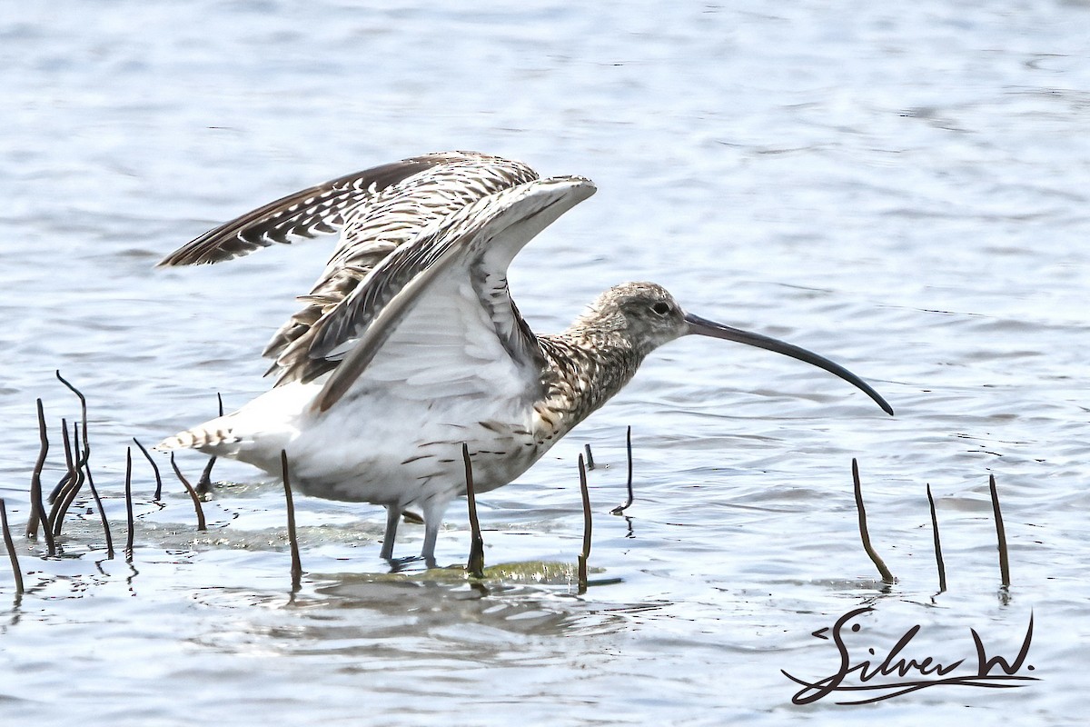
[[541, 349], [508, 294], [507, 268], [594, 191], [577, 177], [504, 190], [382, 260], [312, 331], [306, 354], [336, 365], [315, 409], [328, 410], [364, 374], [422, 398], [514, 395], [537, 383]]

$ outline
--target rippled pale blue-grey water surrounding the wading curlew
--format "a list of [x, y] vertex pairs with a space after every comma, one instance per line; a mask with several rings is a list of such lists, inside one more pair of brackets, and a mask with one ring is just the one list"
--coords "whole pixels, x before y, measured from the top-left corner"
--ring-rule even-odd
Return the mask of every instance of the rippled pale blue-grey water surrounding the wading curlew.
[[[1042, 2], [4, 4], [0, 13], [0, 722], [88, 725], [1076, 724], [1090, 657], [1090, 5]], [[686, 339], [519, 482], [481, 498], [489, 565], [571, 564], [593, 448], [592, 574], [387, 578], [383, 512], [231, 463], [206, 504], [137, 457], [135, 550], [81, 497], [64, 556], [22, 537], [35, 399], [87, 396], [125, 536], [124, 450], [269, 385], [258, 353], [328, 241], [154, 270], [286, 193], [449, 148], [583, 174], [598, 194], [511, 270], [537, 330], [601, 289], [788, 339], [897, 410], [767, 352]], [[623, 499], [632, 426], [637, 500]], [[363, 445], [365, 446], [365, 445]], [[882, 587], [859, 542], [858, 458]], [[159, 460], [160, 468], [168, 469]], [[186, 456], [195, 477], [203, 460]], [[988, 477], [1009, 542], [1000, 586]], [[938, 594], [924, 494], [936, 500]], [[402, 528], [413, 553], [420, 528]], [[438, 557], [468, 550], [463, 501]], [[1013, 659], [1020, 689], [806, 706], [786, 669], [862, 607], [852, 658]], [[847, 633], [847, 631], [846, 631]], [[875, 649], [876, 656], [867, 651]], [[1030, 671], [1029, 666], [1033, 669]], [[849, 680], [850, 681], [850, 680]], [[846, 682], [847, 683], [847, 682]], [[860, 683], [856, 680], [855, 683]]]

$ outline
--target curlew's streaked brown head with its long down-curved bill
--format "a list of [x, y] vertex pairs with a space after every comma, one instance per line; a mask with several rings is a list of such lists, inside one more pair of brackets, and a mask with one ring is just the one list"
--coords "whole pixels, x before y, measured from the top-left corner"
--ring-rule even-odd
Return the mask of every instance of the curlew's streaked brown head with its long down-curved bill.
[[614, 286], [598, 295], [572, 327], [619, 336], [632, 347], [641, 360], [663, 343], [690, 334], [754, 346], [824, 368], [856, 386], [873, 399], [883, 411], [893, 414], [893, 408], [877, 391], [844, 366], [798, 346], [686, 313], [665, 288], [653, 282], [626, 282]]

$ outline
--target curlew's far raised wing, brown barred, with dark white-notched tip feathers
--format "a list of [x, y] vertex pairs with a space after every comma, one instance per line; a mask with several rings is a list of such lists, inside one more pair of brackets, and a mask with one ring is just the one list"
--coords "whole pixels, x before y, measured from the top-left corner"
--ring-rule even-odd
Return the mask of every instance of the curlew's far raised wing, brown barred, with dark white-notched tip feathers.
[[[332, 315], [371, 270], [429, 226], [500, 190], [537, 179], [530, 167], [473, 152], [403, 159], [312, 186], [206, 232], [164, 258], [160, 266], [218, 263], [274, 243], [340, 232], [340, 242], [304, 307], [265, 347], [276, 362], [277, 385], [311, 380], [336, 362], [300, 356], [312, 330]], [[290, 353], [290, 355], [289, 355]]]

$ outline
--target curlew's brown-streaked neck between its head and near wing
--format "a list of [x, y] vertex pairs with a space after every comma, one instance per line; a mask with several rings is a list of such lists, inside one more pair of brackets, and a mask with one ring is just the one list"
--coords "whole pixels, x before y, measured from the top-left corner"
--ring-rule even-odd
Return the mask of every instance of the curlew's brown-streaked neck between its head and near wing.
[[546, 361], [541, 404], [558, 417], [560, 435], [620, 391], [644, 356], [622, 336], [577, 326], [538, 343]]

